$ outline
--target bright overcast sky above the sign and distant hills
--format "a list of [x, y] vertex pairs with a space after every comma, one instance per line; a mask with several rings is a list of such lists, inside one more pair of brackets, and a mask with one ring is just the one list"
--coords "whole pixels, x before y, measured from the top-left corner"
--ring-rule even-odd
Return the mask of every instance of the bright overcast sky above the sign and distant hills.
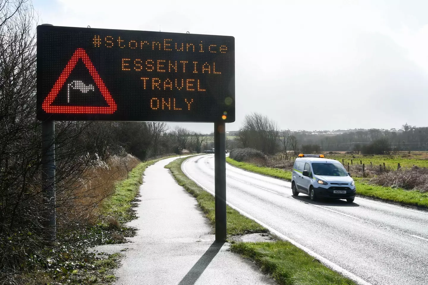
[[[254, 4], [253, 4], [254, 3]], [[262, 3], [262, 4], [260, 4]], [[322, 3], [322, 4], [320, 4]], [[428, 1], [33, 0], [40, 23], [235, 37], [237, 130], [428, 126]], [[173, 125], [173, 124], [171, 124]], [[212, 132], [210, 123], [183, 123]]]

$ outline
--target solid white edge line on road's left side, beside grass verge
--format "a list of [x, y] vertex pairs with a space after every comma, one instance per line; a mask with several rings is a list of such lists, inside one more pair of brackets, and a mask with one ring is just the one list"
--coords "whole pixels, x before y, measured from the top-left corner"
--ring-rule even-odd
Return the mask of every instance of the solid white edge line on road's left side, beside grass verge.
[[[199, 182], [197, 182], [195, 179], [193, 179], [192, 176], [190, 176], [187, 173], [187, 171], [184, 168], [184, 165], [186, 164], [186, 162], [187, 162], [187, 160], [185, 160], [181, 164], [181, 171], [183, 171], [184, 175], [186, 175], [187, 177], [189, 177], [190, 179], [192, 179], [193, 182], [195, 182], [200, 188], [204, 189], [205, 191], [207, 191], [211, 195], [215, 196], [215, 194], [213, 192], [211, 192], [210, 190], [208, 190], [207, 188], [205, 188], [203, 185], [199, 184]], [[324, 258], [324, 257], [322, 257], [320, 255], [318, 255], [317, 253], [313, 252], [312, 250], [309, 250], [309, 248], [307, 248], [307, 247], [305, 247], [305, 246], [297, 243], [296, 241], [292, 240], [291, 238], [288, 238], [287, 236], [283, 235], [282, 233], [278, 232], [277, 230], [273, 229], [272, 227], [266, 225], [265, 223], [262, 223], [261, 221], [259, 221], [256, 218], [252, 217], [250, 214], [247, 214], [246, 212], [242, 211], [238, 207], [233, 206], [231, 203], [229, 203], [229, 202], [226, 201], [226, 204], [229, 205], [232, 209], [235, 209], [236, 211], [240, 212], [244, 216], [250, 218], [251, 220], [254, 220], [256, 223], [259, 223], [260, 225], [264, 226], [266, 229], [268, 229], [270, 232], [273, 232], [279, 238], [282, 238], [283, 240], [290, 242], [291, 244], [293, 244], [296, 247], [300, 248], [301, 250], [303, 250], [304, 252], [306, 252], [310, 256], [313, 256], [316, 259], [318, 259], [325, 266], [327, 266], [330, 269], [332, 269], [332, 270], [334, 270], [334, 271], [342, 274], [343, 276], [351, 279], [352, 281], [356, 282], [357, 284], [359, 284], [359, 285], [372, 285], [371, 283], [369, 283], [369, 282], [361, 279], [360, 277], [358, 277], [354, 273], [349, 272], [345, 268], [340, 267], [339, 265], [337, 265], [337, 264], [333, 263], [332, 261], [330, 261], [330, 260], [328, 260], [328, 259], [326, 259], [326, 258]]]

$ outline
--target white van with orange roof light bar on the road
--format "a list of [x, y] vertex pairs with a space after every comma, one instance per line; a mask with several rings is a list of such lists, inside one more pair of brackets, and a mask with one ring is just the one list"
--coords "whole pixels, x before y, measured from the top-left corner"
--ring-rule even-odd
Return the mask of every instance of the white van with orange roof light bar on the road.
[[299, 154], [291, 178], [293, 196], [307, 194], [312, 201], [319, 197], [354, 202], [355, 182], [343, 165], [324, 155]]

